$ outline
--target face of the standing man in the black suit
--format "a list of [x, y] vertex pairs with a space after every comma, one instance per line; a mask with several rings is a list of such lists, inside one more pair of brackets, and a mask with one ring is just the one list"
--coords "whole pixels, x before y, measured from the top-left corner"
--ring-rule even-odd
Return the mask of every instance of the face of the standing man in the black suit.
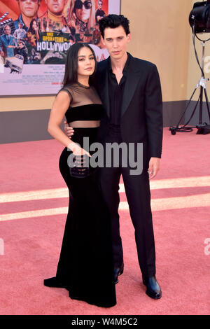
[[113, 59], [120, 59], [125, 55], [129, 42], [130, 34], [126, 35], [125, 29], [121, 25], [115, 29], [106, 27], [104, 30], [104, 45]]

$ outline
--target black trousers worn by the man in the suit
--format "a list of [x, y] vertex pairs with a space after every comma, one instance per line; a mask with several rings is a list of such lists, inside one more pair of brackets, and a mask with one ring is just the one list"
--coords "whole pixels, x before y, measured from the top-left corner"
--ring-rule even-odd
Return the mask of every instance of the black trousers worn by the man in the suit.
[[[122, 143], [120, 130], [110, 129], [106, 143]], [[145, 148], [144, 148], [145, 150]], [[122, 156], [122, 153], [120, 153]], [[155, 241], [153, 234], [153, 220], [151, 213], [151, 192], [148, 179], [148, 158], [144, 151], [143, 171], [141, 174], [131, 175], [130, 167], [122, 167], [122, 158], [118, 167], [103, 167], [100, 173], [100, 185], [104, 200], [111, 214], [113, 262], [114, 267], [123, 263], [123, 246], [120, 237], [120, 223], [118, 207], [120, 203], [119, 183], [123, 176], [125, 194], [130, 210], [130, 217], [134, 225], [134, 235], [137, 244], [137, 254], [141, 273], [144, 276], [155, 275]], [[104, 153], [104, 163], [106, 155]]]

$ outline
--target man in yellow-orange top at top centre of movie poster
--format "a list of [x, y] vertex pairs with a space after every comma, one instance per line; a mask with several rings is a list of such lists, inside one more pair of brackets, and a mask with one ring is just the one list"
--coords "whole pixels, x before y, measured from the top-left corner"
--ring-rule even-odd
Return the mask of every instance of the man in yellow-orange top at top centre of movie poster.
[[53, 31], [53, 23], [56, 26], [56, 30], [62, 31], [64, 27], [65, 33], [70, 33], [67, 26], [66, 18], [63, 15], [64, 7], [66, 6], [66, 0], [45, 0], [48, 10], [40, 17], [41, 26], [47, 25], [46, 31]]

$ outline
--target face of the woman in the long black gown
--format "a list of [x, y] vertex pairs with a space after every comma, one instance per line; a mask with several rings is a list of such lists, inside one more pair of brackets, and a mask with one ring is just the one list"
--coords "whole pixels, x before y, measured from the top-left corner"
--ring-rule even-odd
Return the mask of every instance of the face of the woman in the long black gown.
[[79, 76], [91, 76], [94, 73], [94, 55], [92, 51], [83, 47], [78, 51], [78, 77]]

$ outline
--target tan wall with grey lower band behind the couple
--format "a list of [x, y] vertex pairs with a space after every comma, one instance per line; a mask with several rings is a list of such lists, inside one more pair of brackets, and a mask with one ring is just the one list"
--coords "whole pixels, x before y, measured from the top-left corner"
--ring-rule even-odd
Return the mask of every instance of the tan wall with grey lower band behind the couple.
[[[129, 18], [132, 32], [129, 52], [158, 66], [165, 127], [176, 125], [201, 75], [195, 60], [192, 31], [188, 22], [193, 3], [195, 1], [192, 0], [121, 0], [121, 13]], [[208, 36], [203, 34], [202, 38]], [[201, 59], [200, 41], [196, 41], [196, 46]], [[205, 55], [208, 61], [209, 43]], [[205, 65], [206, 77], [209, 78], [210, 65], [208, 62]], [[207, 83], [207, 93], [209, 89]], [[198, 91], [190, 109], [197, 97]], [[53, 99], [53, 96], [45, 95], [1, 97], [0, 143], [50, 139], [47, 124]], [[190, 109], [185, 120], [190, 116]], [[204, 118], [207, 118], [206, 112]], [[194, 119], [194, 124], [198, 123], [197, 120]]]

